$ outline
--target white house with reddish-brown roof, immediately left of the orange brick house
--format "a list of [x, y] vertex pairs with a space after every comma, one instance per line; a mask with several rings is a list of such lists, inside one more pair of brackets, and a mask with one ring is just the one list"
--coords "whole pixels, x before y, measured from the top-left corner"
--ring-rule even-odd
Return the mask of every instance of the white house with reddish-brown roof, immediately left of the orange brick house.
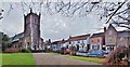
[[90, 34], [88, 35], [81, 35], [81, 36], [75, 36], [69, 37], [67, 41], [67, 45], [75, 46], [77, 51], [88, 52], [90, 50]]

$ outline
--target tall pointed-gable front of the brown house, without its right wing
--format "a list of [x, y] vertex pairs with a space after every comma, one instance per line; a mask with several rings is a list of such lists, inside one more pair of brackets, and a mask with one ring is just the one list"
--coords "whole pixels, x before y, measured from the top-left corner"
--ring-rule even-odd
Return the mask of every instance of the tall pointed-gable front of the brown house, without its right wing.
[[115, 27], [112, 24], [109, 24], [109, 26], [105, 32], [106, 51], [114, 51], [116, 49], [117, 37], [118, 37], [117, 30], [115, 29]]

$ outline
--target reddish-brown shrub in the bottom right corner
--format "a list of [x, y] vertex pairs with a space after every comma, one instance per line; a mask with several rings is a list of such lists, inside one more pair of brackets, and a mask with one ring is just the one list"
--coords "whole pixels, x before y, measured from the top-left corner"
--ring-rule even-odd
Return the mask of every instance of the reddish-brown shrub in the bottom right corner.
[[128, 49], [125, 46], [119, 46], [105, 58], [104, 65], [115, 65], [121, 64], [122, 58], [127, 55]]

